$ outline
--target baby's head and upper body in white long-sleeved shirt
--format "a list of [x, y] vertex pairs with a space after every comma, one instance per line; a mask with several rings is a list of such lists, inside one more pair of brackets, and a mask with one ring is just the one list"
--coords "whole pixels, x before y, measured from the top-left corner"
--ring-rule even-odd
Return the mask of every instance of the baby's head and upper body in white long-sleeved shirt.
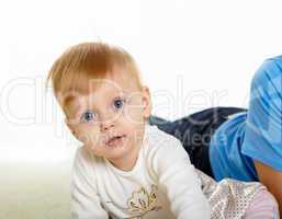
[[103, 43], [83, 43], [53, 65], [55, 96], [77, 150], [71, 218], [211, 218], [181, 142], [148, 125], [149, 89], [132, 56]]

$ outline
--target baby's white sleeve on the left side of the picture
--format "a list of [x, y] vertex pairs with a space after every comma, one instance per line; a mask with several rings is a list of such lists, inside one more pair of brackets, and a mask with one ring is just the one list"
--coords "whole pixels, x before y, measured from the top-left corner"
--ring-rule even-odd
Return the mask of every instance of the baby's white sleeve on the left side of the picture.
[[87, 151], [82, 148], [77, 150], [71, 180], [71, 219], [109, 218], [95, 191], [93, 166], [90, 165], [90, 161], [91, 157]]

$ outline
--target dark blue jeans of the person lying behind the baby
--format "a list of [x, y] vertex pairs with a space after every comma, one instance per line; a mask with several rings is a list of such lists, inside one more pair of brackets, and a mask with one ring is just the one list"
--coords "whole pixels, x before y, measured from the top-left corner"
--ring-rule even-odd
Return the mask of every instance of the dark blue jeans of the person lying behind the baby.
[[228, 119], [228, 116], [246, 111], [236, 107], [207, 108], [174, 122], [150, 116], [149, 124], [178, 138], [188, 152], [192, 164], [213, 177], [208, 148], [214, 131]]

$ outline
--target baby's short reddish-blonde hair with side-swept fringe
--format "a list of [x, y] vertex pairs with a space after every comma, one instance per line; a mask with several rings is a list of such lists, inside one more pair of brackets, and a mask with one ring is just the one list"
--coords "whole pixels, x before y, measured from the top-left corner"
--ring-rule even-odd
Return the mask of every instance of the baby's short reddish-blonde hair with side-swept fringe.
[[52, 81], [56, 96], [72, 91], [88, 94], [90, 80], [104, 79], [116, 67], [125, 70], [129, 82], [136, 82], [142, 89], [140, 73], [133, 57], [105, 43], [81, 43], [68, 48], [52, 66], [46, 82]]

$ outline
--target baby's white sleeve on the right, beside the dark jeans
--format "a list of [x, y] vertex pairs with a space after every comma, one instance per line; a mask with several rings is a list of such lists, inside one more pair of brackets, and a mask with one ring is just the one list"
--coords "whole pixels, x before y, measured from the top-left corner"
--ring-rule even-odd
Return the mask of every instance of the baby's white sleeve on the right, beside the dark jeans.
[[159, 187], [170, 200], [178, 219], [211, 218], [208, 200], [201, 189], [201, 181], [181, 142], [163, 139], [153, 155], [153, 169]]

